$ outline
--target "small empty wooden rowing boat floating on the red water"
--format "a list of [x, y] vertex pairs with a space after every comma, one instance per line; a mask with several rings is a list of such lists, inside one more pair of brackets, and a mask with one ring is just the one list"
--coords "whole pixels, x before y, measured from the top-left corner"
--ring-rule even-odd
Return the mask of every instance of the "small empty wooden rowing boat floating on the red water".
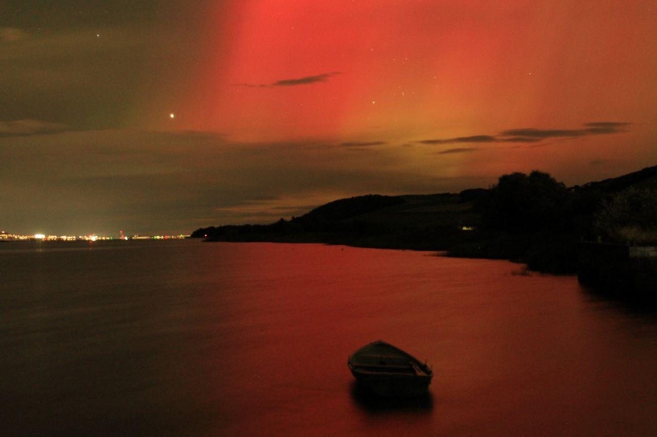
[[359, 385], [380, 396], [424, 394], [434, 376], [428, 365], [382, 340], [353, 352], [347, 365]]

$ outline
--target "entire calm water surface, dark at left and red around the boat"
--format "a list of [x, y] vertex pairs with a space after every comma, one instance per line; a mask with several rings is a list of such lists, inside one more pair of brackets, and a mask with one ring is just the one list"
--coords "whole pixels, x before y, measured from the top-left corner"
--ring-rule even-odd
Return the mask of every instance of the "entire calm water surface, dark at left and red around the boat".
[[[323, 245], [0, 243], [3, 434], [655, 435], [657, 316], [503, 261]], [[434, 368], [376, 402], [349, 354]]]

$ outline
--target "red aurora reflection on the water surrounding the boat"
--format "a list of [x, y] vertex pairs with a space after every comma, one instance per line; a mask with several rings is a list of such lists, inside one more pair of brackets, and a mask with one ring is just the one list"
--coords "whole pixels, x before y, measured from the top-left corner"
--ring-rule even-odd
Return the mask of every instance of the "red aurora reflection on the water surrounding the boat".
[[[648, 411], [629, 407], [637, 395], [654, 400], [641, 377], [656, 362], [654, 348], [628, 339], [625, 323], [586, 302], [573, 277], [518, 276], [509, 262], [405, 251], [216, 250], [233, 253], [215, 289], [229, 294], [215, 301], [223, 333], [215, 360], [231, 432], [655, 429]], [[428, 359], [435, 373], [428, 400], [377, 404], [355, 390], [346, 359], [376, 339]], [[618, 402], [628, 407], [620, 412]]]

